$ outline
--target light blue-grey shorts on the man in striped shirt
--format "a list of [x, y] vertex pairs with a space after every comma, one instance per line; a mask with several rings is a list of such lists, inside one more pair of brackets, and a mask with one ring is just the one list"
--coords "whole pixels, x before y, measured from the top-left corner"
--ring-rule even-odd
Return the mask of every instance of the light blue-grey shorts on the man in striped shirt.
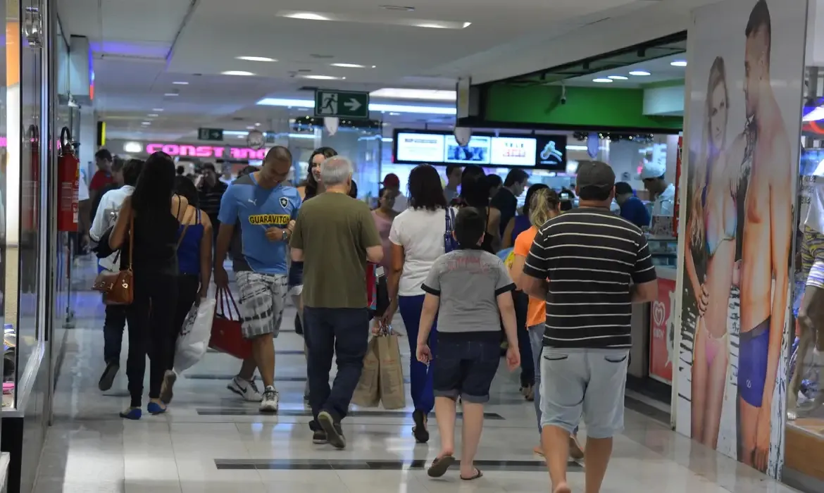
[[559, 350], [541, 354], [541, 428], [608, 439], [624, 430], [624, 391], [630, 350]]

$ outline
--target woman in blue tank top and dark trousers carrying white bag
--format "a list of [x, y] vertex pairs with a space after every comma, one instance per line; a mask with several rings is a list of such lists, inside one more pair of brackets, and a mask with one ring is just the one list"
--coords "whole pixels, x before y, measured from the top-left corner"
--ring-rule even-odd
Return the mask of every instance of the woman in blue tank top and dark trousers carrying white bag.
[[195, 303], [206, 298], [209, 279], [212, 278], [212, 222], [208, 214], [198, 209], [198, 189], [185, 176], [175, 179], [175, 191], [189, 206], [180, 216], [177, 240], [177, 308], [171, 331], [171, 357], [166, 364], [160, 399], [171, 402], [172, 387], [177, 380], [175, 373], [175, 347], [177, 337], [183, 329], [186, 316]]

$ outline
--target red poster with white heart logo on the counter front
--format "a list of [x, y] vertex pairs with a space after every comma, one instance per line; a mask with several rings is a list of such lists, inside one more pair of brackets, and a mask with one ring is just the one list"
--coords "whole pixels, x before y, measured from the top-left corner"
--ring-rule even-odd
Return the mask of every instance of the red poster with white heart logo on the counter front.
[[663, 383], [672, 383], [675, 280], [658, 279], [658, 298], [649, 307], [649, 376]]

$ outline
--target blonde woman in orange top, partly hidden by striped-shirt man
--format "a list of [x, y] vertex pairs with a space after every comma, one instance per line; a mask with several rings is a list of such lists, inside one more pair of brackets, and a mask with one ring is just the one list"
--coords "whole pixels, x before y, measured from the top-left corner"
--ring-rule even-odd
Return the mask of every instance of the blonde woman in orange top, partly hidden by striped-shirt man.
[[[535, 241], [538, 228], [551, 218], [561, 214], [560, 199], [555, 190], [548, 188], [537, 190], [532, 195], [529, 203], [529, 222], [531, 228], [522, 232], [515, 239], [515, 261], [510, 271], [513, 281], [517, 287], [521, 288], [521, 278], [523, 275], [523, 265], [527, 261], [529, 249]], [[546, 318], [546, 300], [539, 298], [529, 298], [529, 308], [527, 308], [527, 330], [532, 346], [532, 361], [535, 364], [535, 412], [538, 416], [538, 430], [541, 431], [541, 350], [544, 345], [544, 321]], [[576, 430], [577, 431], [577, 430]], [[534, 449], [535, 453], [543, 455], [540, 447]], [[583, 458], [578, 441], [573, 434], [569, 438], [569, 455], [573, 458]]]

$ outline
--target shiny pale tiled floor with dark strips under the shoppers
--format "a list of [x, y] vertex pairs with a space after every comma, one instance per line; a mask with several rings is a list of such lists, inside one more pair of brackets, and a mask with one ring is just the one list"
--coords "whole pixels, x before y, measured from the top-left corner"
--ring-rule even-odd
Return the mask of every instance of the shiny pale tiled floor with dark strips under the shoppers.
[[[288, 308], [284, 320], [293, 317], [293, 308]], [[353, 413], [344, 421], [349, 439], [344, 451], [311, 444], [302, 399], [306, 377], [302, 340], [294, 332], [284, 332], [276, 341], [279, 416], [260, 416], [255, 405], [238, 401], [226, 389], [238, 362], [209, 353], [189, 377], [180, 378], [166, 416], [124, 421], [117, 416], [128, 404], [123, 372], [110, 392], [101, 394], [96, 387], [103, 369], [101, 320], [78, 320], [84, 324], [69, 334], [55, 424], [49, 430], [35, 487], [38, 493], [549, 491], [543, 464], [531, 453], [537, 443], [534, 410], [517, 393], [517, 375], [505, 369], [494, 384], [480, 446], [485, 476], [466, 482], [452, 473], [436, 481], [426, 476], [423, 467], [438, 453], [437, 429], [433, 426], [428, 445], [416, 445], [410, 410]], [[286, 326], [291, 328], [291, 323]], [[402, 340], [408, 358], [404, 345]], [[582, 465], [570, 465], [570, 481], [574, 491], [583, 491]], [[794, 490], [628, 410], [626, 430], [616, 439], [602, 491]]]

